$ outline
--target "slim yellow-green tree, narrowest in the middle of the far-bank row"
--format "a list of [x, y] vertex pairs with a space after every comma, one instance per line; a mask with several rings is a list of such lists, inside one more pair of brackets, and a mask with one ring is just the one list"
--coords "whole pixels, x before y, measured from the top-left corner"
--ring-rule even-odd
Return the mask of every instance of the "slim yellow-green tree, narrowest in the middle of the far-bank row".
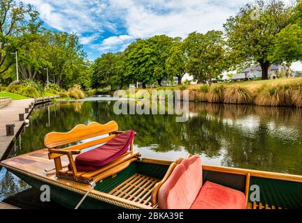
[[184, 44], [180, 41], [173, 44], [166, 59], [166, 72], [168, 79], [178, 77], [178, 84], [182, 83], [182, 77], [186, 72], [187, 56], [185, 54]]

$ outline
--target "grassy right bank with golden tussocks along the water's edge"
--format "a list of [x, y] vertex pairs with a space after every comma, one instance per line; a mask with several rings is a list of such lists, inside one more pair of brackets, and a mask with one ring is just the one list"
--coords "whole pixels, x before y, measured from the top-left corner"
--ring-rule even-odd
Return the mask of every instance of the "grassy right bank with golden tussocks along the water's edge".
[[[273, 79], [224, 84], [181, 85], [157, 87], [159, 90], [189, 90], [189, 100], [194, 102], [213, 102], [227, 104], [254, 104], [263, 106], [302, 107], [302, 77], [292, 79]], [[136, 89], [136, 92], [141, 89]], [[152, 93], [153, 89], [145, 89]], [[164, 91], [158, 96], [164, 96]], [[129, 91], [127, 91], [129, 96]], [[136, 93], [136, 98], [144, 98]]]

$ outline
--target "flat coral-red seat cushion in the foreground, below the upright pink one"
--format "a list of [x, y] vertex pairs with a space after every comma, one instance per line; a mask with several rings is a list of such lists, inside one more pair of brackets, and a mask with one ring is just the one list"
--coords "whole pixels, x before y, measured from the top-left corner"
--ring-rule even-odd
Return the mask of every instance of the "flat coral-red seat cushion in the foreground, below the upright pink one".
[[191, 209], [245, 209], [245, 206], [243, 192], [206, 181]]

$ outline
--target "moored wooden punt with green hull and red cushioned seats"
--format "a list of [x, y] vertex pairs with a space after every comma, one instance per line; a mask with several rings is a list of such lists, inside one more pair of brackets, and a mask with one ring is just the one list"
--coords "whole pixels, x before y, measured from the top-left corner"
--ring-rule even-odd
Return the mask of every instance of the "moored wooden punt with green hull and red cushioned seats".
[[141, 157], [135, 134], [115, 121], [77, 125], [0, 164], [66, 208], [302, 208], [302, 176]]

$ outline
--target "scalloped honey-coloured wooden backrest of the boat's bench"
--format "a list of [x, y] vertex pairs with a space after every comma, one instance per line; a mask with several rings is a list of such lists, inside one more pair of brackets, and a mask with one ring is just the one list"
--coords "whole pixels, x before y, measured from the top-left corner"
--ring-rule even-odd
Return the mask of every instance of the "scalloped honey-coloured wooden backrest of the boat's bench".
[[110, 121], [104, 125], [96, 122], [88, 125], [76, 125], [69, 132], [50, 132], [45, 135], [44, 145], [46, 148], [57, 148], [83, 139], [97, 137], [102, 134], [116, 132], [118, 125], [115, 121]]

